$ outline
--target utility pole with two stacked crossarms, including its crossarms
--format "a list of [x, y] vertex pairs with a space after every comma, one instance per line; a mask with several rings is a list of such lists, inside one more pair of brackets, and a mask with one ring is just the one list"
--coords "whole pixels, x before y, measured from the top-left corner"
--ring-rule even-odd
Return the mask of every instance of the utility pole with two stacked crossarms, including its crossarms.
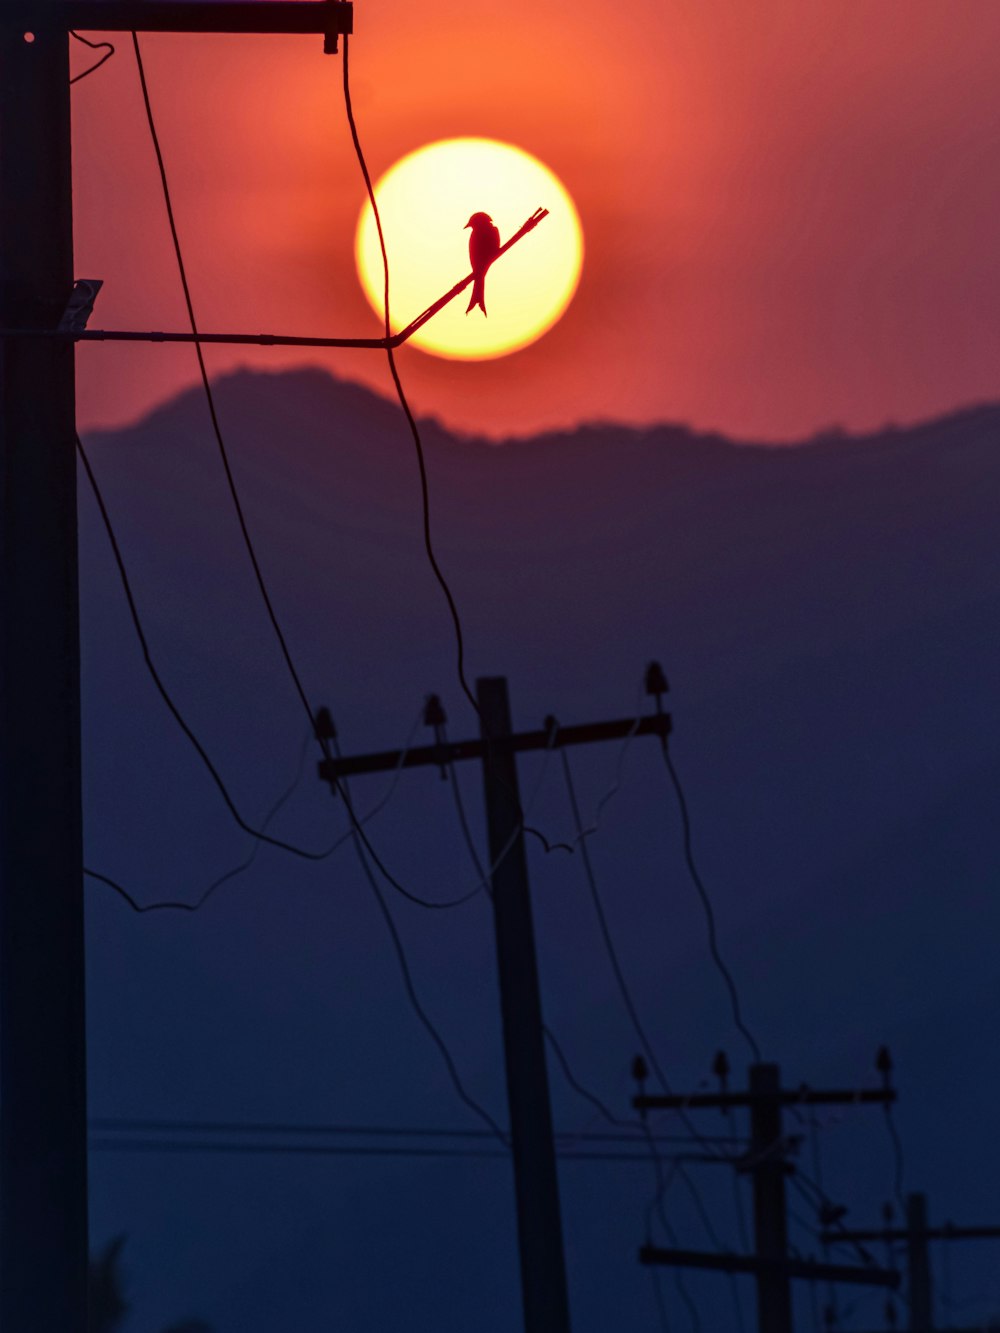
[[[860, 1092], [783, 1088], [781, 1072], [772, 1064], [751, 1065], [747, 1092], [723, 1089], [717, 1093], [692, 1093], [687, 1097], [640, 1092], [632, 1104], [644, 1116], [649, 1110], [696, 1110], [705, 1106], [719, 1106], [723, 1110], [735, 1106], [749, 1109], [749, 1148], [733, 1166], [749, 1174], [753, 1182], [755, 1238], [753, 1254], [704, 1254], [696, 1250], [644, 1245], [639, 1252], [640, 1262], [752, 1274], [757, 1282], [757, 1333], [792, 1333], [792, 1278], [899, 1286], [899, 1273], [891, 1269], [817, 1264], [812, 1260], [789, 1257], [785, 1177], [795, 1168], [788, 1161], [789, 1141], [783, 1129], [785, 1106], [843, 1106], [857, 1102], [888, 1105], [895, 1100], [896, 1093], [889, 1086], [867, 1088]], [[843, 1237], [843, 1233], [837, 1234]]]

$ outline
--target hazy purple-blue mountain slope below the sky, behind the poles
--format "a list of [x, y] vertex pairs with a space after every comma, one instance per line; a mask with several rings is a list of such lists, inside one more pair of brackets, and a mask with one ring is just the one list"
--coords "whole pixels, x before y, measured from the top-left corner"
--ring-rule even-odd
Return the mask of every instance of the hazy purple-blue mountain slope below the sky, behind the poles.
[[[400, 744], [432, 689], [452, 734], [475, 730], [395, 404], [313, 369], [229, 375], [217, 401], [275, 604], [344, 748]], [[435, 540], [471, 673], [507, 673], [528, 725], [547, 712], [567, 722], [631, 714], [645, 661], [664, 663], [697, 853], [765, 1052], [793, 1081], [852, 1082], [875, 1077], [871, 1057], [887, 1040], [907, 1188], [927, 1188], [941, 1216], [997, 1221], [1000, 407], [795, 447], [681, 425], [593, 424], [488, 444], [427, 421], [425, 435]], [[295, 772], [304, 720], [248, 575], [204, 401], [185, 393], [127, 431], [91, 436], [89, 448], [153, 652], [260, 818]], [[81, 515], [88, 858], [148, 897], [193, 897], [245, 854], [245, 840], [144, 676], [83, 484]], [[616, 757], [572, 756], [588, 809]], [[536, 773], [525, 765], [525, 790]], [[477, 774], [465, 776], [477, 818]], [[379, 790], [359, 784], [357, 798]], [[557, 765], [536, 812], [568, 832]], [[280, 829], [316, 846], [339, 818], [309, 756]], [[431, 770], [407, 777], [372, 836], [421, 892], [445, 897], [456, 874], [469, 877]], [[708, 961], [655, 749], [629, 752], [593, 849], [675, 1082], [703, 1078], [720, 1044], [740, 1070], [745, 1049]], [[547, 1013], [580, 1076], [624, 1110], [635, 1040], [579, 873], [569, 857], [532, 852]], [[263, 853], [193, 921], [151, 925], [104, 889], [88, 894], [99, 1113], [477, 1128], [405, 1008], [349, 850], [320, 870]], [[477, 913], [400, 917], [461, 1068], [500, 1112], [488, 917]], [[563, 1124], [588, 1118], [555, 1073], [553, 1088]], [[827, 1186], [873, 1224], [891, 1162], [877, 1113], [859, 1116], [828, 1132]], [[456, 1170], [321, 1166], [321, 1188], [295, 1172], [271, 1184], [227, 1176], [223, 1188], [203, 1184], [196, 1160], [168, 1165], [188, 1172], [184, 1189], [172, 1177], [169, 1202], [153, 1206], [152, 1177], [127, 1178], [117, 1160], [99, 1162], [95, 1194], [104, 1233], [129, 1232], [137, 1309], [152, 1292], [149, 1326], [176, 1308], [157, 1256], [185, 1208], [196, 1232], [229, 1228], [211, 1280], [197, 1245], [177, 1261], [184, 1300], [219, 1333], [516, 1324], [509, 1182], [492, 1164], [467, 1168], [479, 1202]], [[597, 1180], [589, 1170], [564, 1169], [575, 1328], [655, 1326], [635, 1264], [649, 1181], [635, 1166]], [[729, 1184], [712, 1188], [725, 1216]], [[595, 1190], [605, 1190], [600, 1206]], [[687, 1210], [679, 1197], [683, 1242], [699, 1246]], [[309, 1248], [320, 1232], [333, 1266]], [[216, 1242], [207, 1233], [199, 1244]], [[372, 1290], [371, 1246], [381, 1244], [411, 1249], [397, 1284]], [[280, 1282], [267, 1273], [276, 1249], [288, 1265]], [[995, 1272], [981, 1252], [955, 1262], [956, 1292]], [[452, 1276], [439, 1284], [441, 1264]], [[692, 1284], [705, 1328], [725, 1333], [725, 1282]], [[415, 1308], [420, 1322], [404, 1317]]]

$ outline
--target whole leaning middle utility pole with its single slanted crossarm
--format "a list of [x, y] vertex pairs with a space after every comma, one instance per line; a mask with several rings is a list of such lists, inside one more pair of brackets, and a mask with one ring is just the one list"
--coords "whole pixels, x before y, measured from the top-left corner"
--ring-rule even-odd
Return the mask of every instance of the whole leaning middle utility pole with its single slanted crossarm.
[[400, 766], [419, 768], [427, 764], [444, 770], [448, 764], [471, 758], [483, 764], [524, 1329], [525, 1333], [569, 1333], [559, 1181], [516, 754], [624, 740], [628, 736], [653, 734], [665, 741], [671, 720], [657, 709], [653, 716], [639, 721], [625, 718], [555, 729], [555, 722], [549, 720], [543, 730], [512, 732], [504, 677], [479, 680], [476, 698], [481, 722], [477, 740], [445, 741], [440, 732], [444, 713], [439, 700], [431, 696], [424, 717], [436, 729], [435, 745], [323, 760], [320, 777], [336, 793], [341, 778], [360, 773], [392, 772]]

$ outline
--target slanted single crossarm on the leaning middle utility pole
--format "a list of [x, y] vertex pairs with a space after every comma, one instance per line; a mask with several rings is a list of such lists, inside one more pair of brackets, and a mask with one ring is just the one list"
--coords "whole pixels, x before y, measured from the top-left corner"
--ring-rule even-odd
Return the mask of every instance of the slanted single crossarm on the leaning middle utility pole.
[[511, 736], [496, 736], [491, 740], [443, 741], [435, 745], [417, 745], [408, 750], [380, 750], [375, 754], [355, 754], [344, 758], [320, 760], [319, 773], [327, 782], [359, 773], [384, 773], [397, 768], [420, 768], [424, 764], [437, 766], [455, 764], [467, 758], [488, 758], [491, 754], [520, 753], [523, 750], [560, 749], [565, 745], [589, 745], [593, 741], [617, 741], [628, 736], [661, 736], [671, 732], [668, 713], [653, 713], [640, 718], [625, 717], [612, 722], [584, 722], [579, 726], [560, 726], [537, 732], [515, 732]]

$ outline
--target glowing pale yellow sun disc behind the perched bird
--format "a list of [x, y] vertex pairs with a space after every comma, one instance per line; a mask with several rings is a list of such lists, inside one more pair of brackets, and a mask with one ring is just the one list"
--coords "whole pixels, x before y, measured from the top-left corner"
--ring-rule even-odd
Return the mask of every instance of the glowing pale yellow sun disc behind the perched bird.
[[[469, 272], [472, 213], [489, 213], [500, 241], [537, 208], [535, 231], [487, 275], [487, 309], [465, 315], [463, 292], [407, 345], [435, 356], [481, 361], [535, 343], [569, 305], [583, 268], [583, 228], [559, 177], [523, 148], [496, 139], [441, 139], [401, 157], [375, 187], [389, 256], [393, 332]], [[355, 259], [364, 293], [383, 317], [383, 263], [371, 204], [357, 221]]]

